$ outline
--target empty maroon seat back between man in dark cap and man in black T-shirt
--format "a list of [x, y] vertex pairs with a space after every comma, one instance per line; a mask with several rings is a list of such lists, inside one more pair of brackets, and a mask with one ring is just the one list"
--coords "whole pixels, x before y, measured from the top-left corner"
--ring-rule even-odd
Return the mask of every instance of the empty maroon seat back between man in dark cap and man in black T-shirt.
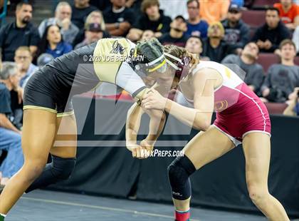
[[266, 12], [265, 11], [243, 11], [242, 20], [253, 28], [262, 26], [266, 22]]

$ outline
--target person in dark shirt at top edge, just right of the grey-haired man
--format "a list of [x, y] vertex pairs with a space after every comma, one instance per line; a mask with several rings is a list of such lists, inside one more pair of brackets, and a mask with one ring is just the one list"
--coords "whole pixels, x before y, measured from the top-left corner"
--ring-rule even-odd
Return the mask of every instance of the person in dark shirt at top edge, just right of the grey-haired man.
[[74, 4], [72, 6], [72, 22], [77, 26], [80, 30], [84, 28], [84, 23], [86, 17], [92, 11], [98, 10], [95, 6], [90, 6], [89, 0], [74, 0]]

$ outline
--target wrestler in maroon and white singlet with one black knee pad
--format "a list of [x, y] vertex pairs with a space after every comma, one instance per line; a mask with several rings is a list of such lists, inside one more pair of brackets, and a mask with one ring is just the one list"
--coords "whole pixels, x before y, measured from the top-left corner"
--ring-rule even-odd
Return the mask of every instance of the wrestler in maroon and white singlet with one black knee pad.
[[[289, 220], [283, 205], [268, 192], [271, 122], [266, 106], [226, 66], [201, 61], [189, 73], [182, 71], [186, 64], [183, 48], [164, 46], [164, 53], [169, 60], [169, 73], [159, 76], [159, 86], [147, 93], [142, 108], [167, 111], [182, 123], [201, 130], [184, 147], [184, 157], [175, 159], [168, 168], [176, 220], [189, 220], [189, 176], [240, 143], [246, 159], [246, 183], [251, 200], [269, 220]], [[168, 90], [178, 89], [176, 101], [161, 95], [167, 86]], [[211, 125], [214, 111], [216, 120]]]

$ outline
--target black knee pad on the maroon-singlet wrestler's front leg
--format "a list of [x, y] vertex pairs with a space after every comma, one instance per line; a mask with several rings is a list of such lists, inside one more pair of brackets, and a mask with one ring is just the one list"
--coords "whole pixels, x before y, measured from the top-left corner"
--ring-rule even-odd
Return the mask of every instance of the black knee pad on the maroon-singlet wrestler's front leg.
[[172, 197], [187, 200], [191, 196], [189, 176], [196, 171], [193, 163], [186, 156], [176, 158], [167, 168]]

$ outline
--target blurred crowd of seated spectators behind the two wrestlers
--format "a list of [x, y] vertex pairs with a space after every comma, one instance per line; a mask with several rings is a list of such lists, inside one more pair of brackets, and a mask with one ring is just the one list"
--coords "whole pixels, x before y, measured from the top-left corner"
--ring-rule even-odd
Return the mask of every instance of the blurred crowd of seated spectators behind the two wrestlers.
[[[243, 18], [256, 1], [60, 1], [53, 17], [38, 26], [32, 23], [33, 6], [14, 1], [15, 20], [0, 29], [0, 150], [8, 153], [0, 167], [1, 183], [23, 162], [22, 96], [28, 78], [54, 58], [101, 38], [137, 42], [156, 37], [201, 60], [236, 64], [264, 102], [287, 103], [284, 114], [299, 115], [299, 0], [268, 0], [271, 5], [260, 9], [263, 19], [251, 26]], [[0, 13], [3, 4], [0, 0]], [[11, 167], [16, 159], [19, 163]]]

